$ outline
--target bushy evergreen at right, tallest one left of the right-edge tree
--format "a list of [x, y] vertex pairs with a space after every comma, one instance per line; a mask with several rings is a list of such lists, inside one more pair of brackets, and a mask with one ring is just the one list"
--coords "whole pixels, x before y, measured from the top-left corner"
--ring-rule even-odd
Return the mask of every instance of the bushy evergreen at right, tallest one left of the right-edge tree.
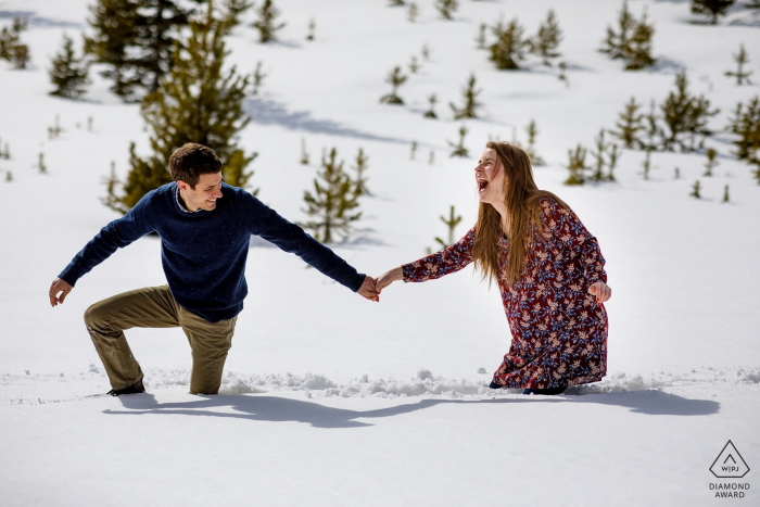
[[[720, 112], [711, 111], [710, 101], [704, 96], [692, 97], [687, 88], [686, 71], [682, 71], [675, 76], [675, 91], [671, 91], [660, 105], [662, 119], [669, 129], [663, 139], [666, 150], [672, 151], [677, 144], [682, 151], [693, 151], [695, 136], [709, 136], [711, 132], [707, 129], [707, 122]], [[682, 134], [691, 135], [692, 147], [685, 144]]]

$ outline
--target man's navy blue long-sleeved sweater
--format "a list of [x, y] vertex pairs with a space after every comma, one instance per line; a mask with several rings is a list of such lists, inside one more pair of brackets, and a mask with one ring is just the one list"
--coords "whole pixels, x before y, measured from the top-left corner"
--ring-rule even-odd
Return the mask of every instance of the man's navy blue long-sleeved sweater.
[[230, 319], [243, 309], [251, 235], [299, 255], [354, 292], [362, 287], [364, 275], [245, 190], [221, 183], [216, 207], [197, 213], [180, 208], [176, 190], [173, 182], [145, 194], [124, 217], [103, 227], [59, 278], [74, 287], [116, 249], [156, 231], [172, 295], [210, 322]]

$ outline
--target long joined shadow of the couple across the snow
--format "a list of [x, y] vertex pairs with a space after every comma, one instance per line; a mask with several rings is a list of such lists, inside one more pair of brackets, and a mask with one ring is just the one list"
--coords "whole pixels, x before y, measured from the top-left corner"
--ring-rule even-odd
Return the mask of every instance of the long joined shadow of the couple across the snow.
[[[569, 400], [568, 400], [569, 398]], [[159, 403], [152, 394], [125, 395], [118, 398], [124, 410], [104, 410], [107, 415], [141, 416], [145, 414], [231, 417], [271, 422], [304, 422], [315, 428], [360, 428], [372, 426], [358, 419], [378, 419], [423, 410], [443, 404], [494, 404], [509, 405], [521, 403], [552, 403], [561, 410], [562, 403], [596, 403], [630, 408], [636, 414], [649, 416], [709, 416], [720, 409], [718, 402], [688, 400], [675, 394], [658, 391], [633, 391], [626, 393], [587, 394], [582, 396], [542, 396], [541, 400], [528, 396], [494, 400], [420, 400], [417, 403], [403, 403], [376, 410], [349, 410], [327, 407], [319, 403], [291, 400], [268, 395], [225, 395], [204, 396], [198, 401], [182, 403]], [[231, 407], [233, 413], [217, 411], [215, 408]]]

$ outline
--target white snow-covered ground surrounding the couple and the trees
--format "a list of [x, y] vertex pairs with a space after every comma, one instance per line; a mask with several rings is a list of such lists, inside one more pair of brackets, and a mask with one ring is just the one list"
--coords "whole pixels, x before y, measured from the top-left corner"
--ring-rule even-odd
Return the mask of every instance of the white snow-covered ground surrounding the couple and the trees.
[[[570, 148], [612, 128], [630, 97], [662, 100], [682, 66], [692, 91], [721, 109], [711, 125], [722, 130], [736, 102], [760, 92], [723, 76], [744, 43], [760, 80], [757, 16], [734, 9], [704, 26], [689, 23], [687, 1], [631, 1], [656, 23], [660, 63], [625, 73], [597, 52], [617, 1], [463, 1], [447, 22], [426, 0], [414, 24], [384, 0], [276, 3], [288, 23], [279, 42], [257, 43], [248, 26], [228, 42], [241, 72], [262, 61], [269, 74], [246, 102], [253, 121], [241, 135], [259, 153], [259, 198], [302, 220], [321, 150], [335, 147], [350, 165], [363, 148], [373, 197], [334, 250], [377, 276], [434, 246], [452, 204], [464, 235], [476, 219], [472, 168], [485, 141], [511, 139], [516, 128], [524, 141], [535, 119], [547, 161], [535, 168], [539, 186], [573, 207], [607, 258], [608, 377], [556, 397], [493, 392], [485, 385], [510, 335], [497, 292], [471, 268], [394, 284], [375, 304], [253, 241], [225, 395], [187, 394], [180, 330], [134, 330], [150, 394], [90, 397], [110, 386], [81, 315], [106, 296], [164, 283], [160, 243], [143, 238], [117, 252], [62, 307], [49, 307], [47, 291], [118, 216], [99, 201], [102, 178], [112, 161], [125, 175], [129, 141], [147, 153], [149, 132], [139, 107], [97, 73], [83, 101], [48, 96], [49, 58], [62, 33], [78, 40], [88, 1], [0, 0], [2, 26], [31, 17], [22, 38], [33, 55], [28, 71], [0, 62], [0, 139], [11, 151], [0, 160], [0, 505], [713, 505], [721, 499], [710, 484], [729, 480], [709, 468], [729, 440], [750, 468], [735, 481], [750, 485], [736, 502], [757, 505], [760, 186], [749, 167], [719, 132], [708, 140], [720, 153], [712, 178], [701, 177], [704, 154], [655, 153], [645, 181], [643, 153], [626, 151], [618, 182], [561, 185]], [[549, 8], [566, 35], [569, 86], [534, 60], [498, 72], [474, 48], [480, 23], [504, 13], [532, 35]], [[312, 17], [316, 40], [307, 42]], [[400, 89], [406, 105], [380, 104], [383, 77], [413, 55], [422, 68]], [[470, 73], [483, 117], [467, 122], [470, 159], [449, 159], [445, 141], [461, 122], [447, 104], [459, 102]], [[422, 117], [430, 93], [442, 119]], [[56, 115], [64, 132], [49, 140]], [[309, 166], [299, 163], [302, 139]], [[39, 153], [47, 175], [35, 167]], [[688, 198], [697, 178], [702, 200]], [[721, 203], [725, 185], [730, 204]]]

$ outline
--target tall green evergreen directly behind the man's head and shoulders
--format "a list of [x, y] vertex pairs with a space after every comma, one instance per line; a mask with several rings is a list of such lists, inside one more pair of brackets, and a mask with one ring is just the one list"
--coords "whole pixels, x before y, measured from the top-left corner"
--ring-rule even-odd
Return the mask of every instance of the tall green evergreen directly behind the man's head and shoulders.
[[[135, 143], [129, 147], [130, 170], [119, 186], [111, 186], [106, 205], [126, 213], [149, 191], [172, 181], [167, 170], [169, 156], [187, 142], [204, 144], [221, 160], [224, 180], [245, 188], [252, 172], [245, 167], [256, 154], [248, 156], [237, 145], [237, 134], [250, 118], [242, 111], [249, 93], [249, 77], [237, 74], [235, 66], [223, 72], [224, 35], [227, 22], [216, 17], [213, 4], [198, 20], [190, 22], [189, 39], [174, 52], [174, 66], [161, 87], [142, 99], [141, 115], [153, 134], [153, 154], [143, 160]], [[254, 195], [257, 191], [254, 191]]]

